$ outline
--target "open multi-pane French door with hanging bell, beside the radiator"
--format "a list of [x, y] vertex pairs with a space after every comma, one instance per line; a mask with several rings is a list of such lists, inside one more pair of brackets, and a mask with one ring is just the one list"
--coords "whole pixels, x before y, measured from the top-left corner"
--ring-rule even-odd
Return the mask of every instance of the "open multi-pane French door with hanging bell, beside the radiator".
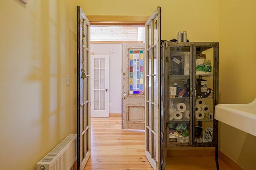
[[90, 22], [77, 6], [77, 170], [90, 157]]

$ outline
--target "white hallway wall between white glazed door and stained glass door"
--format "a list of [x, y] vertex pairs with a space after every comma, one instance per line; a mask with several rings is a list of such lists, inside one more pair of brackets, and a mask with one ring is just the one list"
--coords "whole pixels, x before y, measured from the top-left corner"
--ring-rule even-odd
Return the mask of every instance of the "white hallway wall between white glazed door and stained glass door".
[[[114, 49], [114, 53], [109, 53]], [[95, 55], [109, 55], [109, 113], [122, 112], [122, 44], [91, 44]]]

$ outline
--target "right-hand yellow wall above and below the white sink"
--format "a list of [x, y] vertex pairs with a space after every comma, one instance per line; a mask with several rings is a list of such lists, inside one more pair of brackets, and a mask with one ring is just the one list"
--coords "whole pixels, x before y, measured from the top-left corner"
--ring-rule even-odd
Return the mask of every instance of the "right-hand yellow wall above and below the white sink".
[[[219, 3], [220, 103], [249, 103], [256, 97], [256, 2], [220, 0]], [[242, 168], [255, 169], [255, 136], [224, 123], [220, 123], [219, 134], [222, 152]]]

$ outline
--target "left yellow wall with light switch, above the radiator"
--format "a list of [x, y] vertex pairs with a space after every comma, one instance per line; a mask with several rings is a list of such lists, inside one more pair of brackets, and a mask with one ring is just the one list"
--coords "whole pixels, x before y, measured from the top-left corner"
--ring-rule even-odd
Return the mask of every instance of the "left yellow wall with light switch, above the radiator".
[[28, 2], [0, 5], [1, 170], [35, 170], [76, 133], [76, 3]]

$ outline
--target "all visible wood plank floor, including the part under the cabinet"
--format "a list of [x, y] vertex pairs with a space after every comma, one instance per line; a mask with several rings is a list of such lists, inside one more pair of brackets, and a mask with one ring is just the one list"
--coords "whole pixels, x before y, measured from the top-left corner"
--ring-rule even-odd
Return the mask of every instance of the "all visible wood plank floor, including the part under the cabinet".
[[[121, 117], [91, 118], [91, 156], [84, 170], [153, 170], [144, 131], [121, 129]], [[214, 156], [169, 156], [166, 170], [216, 170]], [[219, 160], [220, 170], [231, 170]], [[76, 166], [74, 166], [76, 170]]]

